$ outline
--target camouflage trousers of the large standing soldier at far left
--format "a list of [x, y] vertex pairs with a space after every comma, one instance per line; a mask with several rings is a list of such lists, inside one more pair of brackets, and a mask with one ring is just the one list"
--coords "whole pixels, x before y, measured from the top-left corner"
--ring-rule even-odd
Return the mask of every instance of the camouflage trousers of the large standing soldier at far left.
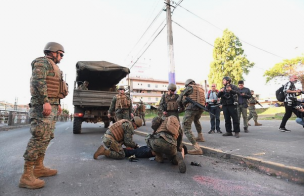
[[30, 110], [30, 132], [32, 137], [23, 155], [25, 161], [36, 161], [39, 155], [45, 154], [50, 141], [54, 138], [55, 117], [57, 116], [58, 105], [51, 105], [51, 107], [51, 114], [43, 118], [38, 117], [42, 116], [42, 106], [34, 107]]

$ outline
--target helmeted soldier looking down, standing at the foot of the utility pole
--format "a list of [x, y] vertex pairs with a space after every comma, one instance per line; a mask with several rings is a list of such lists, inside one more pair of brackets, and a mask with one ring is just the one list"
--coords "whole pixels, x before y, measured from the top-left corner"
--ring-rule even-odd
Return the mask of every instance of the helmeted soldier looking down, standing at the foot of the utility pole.
[[159, 109], [162, 111], [164, 116], [176, 116], [179, 120], [178, 115], [178, 94], [174, 94], [176, 91], [176, 85], [170, 83], [168, 85], [168, 92], [162, 95], [162, 98], [159, 102]]

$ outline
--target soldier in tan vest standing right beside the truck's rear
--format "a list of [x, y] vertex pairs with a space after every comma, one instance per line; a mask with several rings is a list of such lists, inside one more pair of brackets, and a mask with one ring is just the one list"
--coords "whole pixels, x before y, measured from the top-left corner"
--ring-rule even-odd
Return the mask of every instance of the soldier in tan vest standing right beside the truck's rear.
[[125, 94], [125, 88], [123, 86], [119, 86], [118, 91], [118, 95], [115, 95], [112, 99], [108, 111], [108, 118], [111, 118], [111, 113], [115, 110], [116, 121], [121, 119], [130, 120], [134, 117], [132, 113], [132, 101], [130, 97]]

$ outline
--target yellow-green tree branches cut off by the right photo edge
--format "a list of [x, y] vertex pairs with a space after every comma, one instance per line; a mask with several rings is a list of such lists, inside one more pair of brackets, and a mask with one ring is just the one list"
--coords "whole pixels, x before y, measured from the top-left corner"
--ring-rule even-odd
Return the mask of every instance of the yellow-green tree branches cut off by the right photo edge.
[[304, 56], [293, 59], [285, 59], [280, 63], [275, 64], [272, 68], [265, 71], [266, 83], [273, 79], [284, 78], [291, 75], [297, 75], [304, 90]]

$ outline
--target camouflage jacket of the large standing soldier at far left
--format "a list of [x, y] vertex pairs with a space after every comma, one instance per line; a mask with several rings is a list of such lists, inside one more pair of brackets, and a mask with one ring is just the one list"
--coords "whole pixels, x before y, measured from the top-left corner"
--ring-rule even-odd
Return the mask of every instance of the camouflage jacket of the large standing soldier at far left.
[[[49, 98], [47, 95], [46, 77], [53, 76], [53, 66], [48, 62], [46, 57], [36, 58], [32, 62], [31, 84], [31, 105], [43, 105], [44, 103], [60, 104], [59, 98]], [[58, 69], [59, 70], [59, 69]], [[60, 71], [60, 70], [59, 70]], [[62, 72], [58, 73], [62, 78]]]

